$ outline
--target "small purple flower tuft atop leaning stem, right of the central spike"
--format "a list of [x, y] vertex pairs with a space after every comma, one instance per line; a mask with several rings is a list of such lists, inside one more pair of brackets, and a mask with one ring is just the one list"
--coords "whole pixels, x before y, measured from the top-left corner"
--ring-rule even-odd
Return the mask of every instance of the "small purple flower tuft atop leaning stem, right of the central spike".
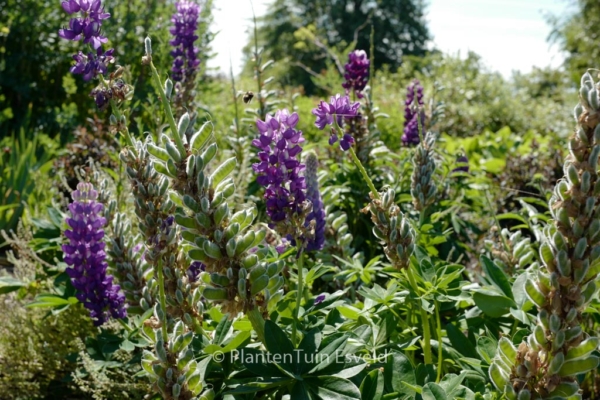
[[[332, 126], [331, 136], [329, 137], [329, 144], [332, 145], [337, 142], [338, 137], [335, 129], [334, 121], [339, 127], [342, 127], [344, 117], [356, 117], [360, 103], [350, 102], [350, 98], [342, 95], [331, 96], [329, 103], [321, 101], [317, 108], [312, 110], [313, 115], [317, 117], [315, 126], [321, 130], [325, 129], [327, 125]], [[352, 135], [346, 133], [340, 140], [340, 147], [346, 151], [354, 143]]]

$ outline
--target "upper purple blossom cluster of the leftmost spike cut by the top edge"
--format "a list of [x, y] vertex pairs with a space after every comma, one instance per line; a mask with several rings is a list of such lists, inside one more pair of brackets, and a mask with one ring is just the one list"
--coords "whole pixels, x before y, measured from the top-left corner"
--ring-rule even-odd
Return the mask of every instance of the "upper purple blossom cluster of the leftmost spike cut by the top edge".
[[58, 36], [63, 39], [78, 41], [83, 38], [83, 43], [91, 44], [98, 50], [108, 39], [101, 35], [102, 21], [110, 18], [109, 13], [102, 9], [101, 0], [68, 0], [62, 2], [62, 8], [67, 14], [80, 12], [80, 17], [71, 18], [69, 28], [58, 30]]

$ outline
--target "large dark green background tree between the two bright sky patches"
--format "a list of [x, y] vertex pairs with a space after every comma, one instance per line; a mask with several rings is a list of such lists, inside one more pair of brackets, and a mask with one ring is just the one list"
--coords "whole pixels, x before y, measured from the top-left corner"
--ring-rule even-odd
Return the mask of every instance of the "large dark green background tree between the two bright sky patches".
[[317, 89], [311, 75], [329, 62], [343, 72], [347, 52], [341, 50], [370, 48], [371, 26], [375, 54], [369, 57], [377, 69], [395, 70], [403, 57], [424, 55], [430, 38], [418, 0], [277, 0], [260, 23], [258, 40], [267, 57], [286, 64], [279, 81], [301, 85], [308, 94]]

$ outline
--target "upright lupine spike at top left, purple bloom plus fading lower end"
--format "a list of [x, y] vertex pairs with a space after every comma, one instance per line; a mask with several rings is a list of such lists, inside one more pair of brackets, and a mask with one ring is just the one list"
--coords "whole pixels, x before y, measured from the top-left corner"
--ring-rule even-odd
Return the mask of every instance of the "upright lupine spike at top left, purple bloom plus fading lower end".
[[171, 17], [173, 26], [169, 30], [173, 39], [169, 42], [173, 46], [171, 56], [174, 57], [171, 68], [172, 79], [175, 82], [175, 109], [180, 116], [189, 107], [194, 98], [194, 80], [200, 65], [198, 53], [200, 49], [194, 46], [198, 39], [198, 19], [200, 5], [193, 1], [182, 0], [175, 3], [177, 11]]

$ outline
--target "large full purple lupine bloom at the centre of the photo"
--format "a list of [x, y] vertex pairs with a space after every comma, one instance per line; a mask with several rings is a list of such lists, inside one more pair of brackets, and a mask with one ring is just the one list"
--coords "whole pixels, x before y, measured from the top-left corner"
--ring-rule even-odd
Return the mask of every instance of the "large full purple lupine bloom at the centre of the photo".
[[266, 188], [267, 215], [274, 223], [300, 213], [306, 200], [306, 182], [301, 174], [305, 166], [299, 160], [304, 138], [297, 124], [298, 114], [286, 109], [256, 121], [260, 137], [252, 144], [261, 151], [260, 162], [252, 168], [258, 174], [258, 184]]

